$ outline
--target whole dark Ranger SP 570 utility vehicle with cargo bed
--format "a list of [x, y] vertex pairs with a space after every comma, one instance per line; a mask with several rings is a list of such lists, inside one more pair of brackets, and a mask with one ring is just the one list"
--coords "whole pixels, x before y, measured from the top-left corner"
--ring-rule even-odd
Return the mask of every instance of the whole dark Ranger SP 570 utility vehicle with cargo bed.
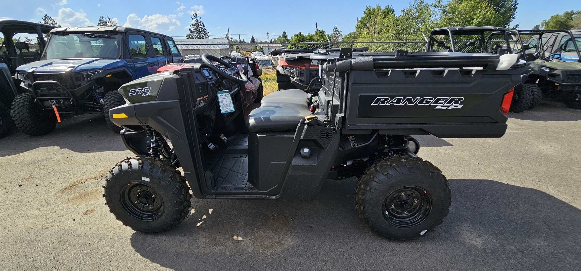
[[250, 112], [240, 95], [245, 76], [210, 55], [198, 66], [123, 85], [127, 104], [109, 114], [136, 157], [107, 176], [110, 211], [134, 230], [156, 233], [185, 219], [191, 194], [308, 200], [325, 179], [356, 176], [355, 207], [366, 225], [390, 239], [425, 236], [448, 214], [451, 193], [440, 169], [417, 156], [411, 135], [503, 136], [520, 82], [507, 61], [516, 60], [351, 55], [311, 55], [325, 62], [316, 95], [277, 91]]

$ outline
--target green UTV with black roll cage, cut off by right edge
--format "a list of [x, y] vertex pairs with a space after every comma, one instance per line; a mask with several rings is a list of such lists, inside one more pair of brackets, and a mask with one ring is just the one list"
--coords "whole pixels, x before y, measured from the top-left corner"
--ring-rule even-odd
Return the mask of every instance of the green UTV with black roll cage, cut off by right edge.
[[538, 58], [525, 64], [530, 80], [543, 95], [562, 96], [567, 107], [581, 109], [581, 30], [519, 30], [519, 34], [533, 35], [525, 45], [528, 55]]

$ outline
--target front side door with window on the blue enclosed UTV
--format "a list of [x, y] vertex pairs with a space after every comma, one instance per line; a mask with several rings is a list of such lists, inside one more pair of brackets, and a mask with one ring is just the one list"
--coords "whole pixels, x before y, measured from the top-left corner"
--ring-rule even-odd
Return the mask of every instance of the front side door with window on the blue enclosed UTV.
[[157, 72], [159, 61], [153, 52], [146, 34], [139, 32], [127, 32], [127, 42], [131, 55], [130, 66], [134, 79], [141, 78]]

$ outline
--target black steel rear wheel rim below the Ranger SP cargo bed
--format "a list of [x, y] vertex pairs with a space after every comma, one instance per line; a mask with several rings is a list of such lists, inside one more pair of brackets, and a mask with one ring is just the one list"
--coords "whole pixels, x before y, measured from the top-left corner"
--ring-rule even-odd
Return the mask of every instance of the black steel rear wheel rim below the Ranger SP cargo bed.
[[396, 227], [413, 227], [432, 211], [432, 197], [416, 186], [401, 187], [389, 194], [383, 206], [385, 220]]

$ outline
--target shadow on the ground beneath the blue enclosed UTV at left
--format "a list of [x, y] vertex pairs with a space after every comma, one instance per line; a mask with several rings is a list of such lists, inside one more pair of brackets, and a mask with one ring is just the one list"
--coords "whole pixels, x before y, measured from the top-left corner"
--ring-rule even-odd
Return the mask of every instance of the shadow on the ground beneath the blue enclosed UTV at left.
[[0, 157], [12, 156], [39, 147], [58, 146], [77, 153], [127, 150], [119, 134], [109, 130], [102, 114], [84, 114], [63, 118], [54, 132], [28, 136], [19, 131], [0, 139]]

